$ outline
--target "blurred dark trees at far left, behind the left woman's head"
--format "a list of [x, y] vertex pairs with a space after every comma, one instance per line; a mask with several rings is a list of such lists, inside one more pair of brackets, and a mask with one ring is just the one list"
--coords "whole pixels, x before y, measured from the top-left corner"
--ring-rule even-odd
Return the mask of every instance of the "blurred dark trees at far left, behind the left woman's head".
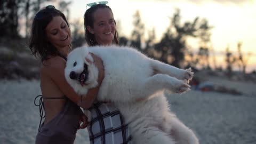
[[[19, 31], [20, 21], [25, 22], [25, 37], [29, 35], [31, 21], [34, 15], [42, 8], [46, 2], [55, 2], [56, 0], [7, 0], [0, 1], [0, 38], [21, 38]], [[57, 1], [56, 1], [57, 2]], [[59, 10], [69, 16], [68, 6], [71, 2], [59, 1]]]

